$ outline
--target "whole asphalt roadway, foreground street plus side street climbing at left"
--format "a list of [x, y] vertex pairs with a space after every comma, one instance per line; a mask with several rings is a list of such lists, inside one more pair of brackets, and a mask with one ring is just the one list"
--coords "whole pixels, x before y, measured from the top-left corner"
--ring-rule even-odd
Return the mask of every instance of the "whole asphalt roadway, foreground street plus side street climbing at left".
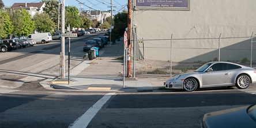
[[[84, 41], [103, 34], [71, 39], [70, 68], [82, 61]], [[255, 86], [137, 93], [44, 89], [40, 81], [59, 76], [59, 47], [54, 40], [0, 52], [1, 128], [201, 127], [208, 112], [256, 103]]]

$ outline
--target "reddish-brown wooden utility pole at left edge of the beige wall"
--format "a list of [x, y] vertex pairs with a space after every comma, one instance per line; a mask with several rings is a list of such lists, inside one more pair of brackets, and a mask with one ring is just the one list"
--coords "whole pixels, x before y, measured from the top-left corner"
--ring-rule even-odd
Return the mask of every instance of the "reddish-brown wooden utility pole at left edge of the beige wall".
[[131, 0], [128, 0], [128, 17], [127, 17], [127, 48], [129, 50], [127, 51], [127, 76], [131, 77]]

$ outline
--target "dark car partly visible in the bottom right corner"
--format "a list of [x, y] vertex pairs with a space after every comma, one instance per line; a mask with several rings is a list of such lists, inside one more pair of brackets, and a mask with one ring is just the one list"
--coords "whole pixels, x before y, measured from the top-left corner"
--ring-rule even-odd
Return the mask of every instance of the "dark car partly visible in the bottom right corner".
[[256, 104], [205, 114], [202, 127], [256, 127]]

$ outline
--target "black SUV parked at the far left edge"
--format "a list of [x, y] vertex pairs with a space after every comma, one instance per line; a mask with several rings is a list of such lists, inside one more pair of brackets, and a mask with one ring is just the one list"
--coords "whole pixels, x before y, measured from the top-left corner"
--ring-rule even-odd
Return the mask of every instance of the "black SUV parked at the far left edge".
[[16, 50], [18, 46], [17, 42], [16, 39], [3, 39], [0, 43], [1, 51], [6, 52]]

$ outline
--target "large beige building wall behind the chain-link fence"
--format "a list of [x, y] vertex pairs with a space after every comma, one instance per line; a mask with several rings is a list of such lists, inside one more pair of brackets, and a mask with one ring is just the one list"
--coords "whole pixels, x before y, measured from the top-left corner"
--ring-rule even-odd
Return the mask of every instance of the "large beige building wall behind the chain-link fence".
[[[145, 48], [145, 59], [167, 61], [171, 56], [170, 49], [166, 48], [170, 46], [170, 40], [155, 39], [171, 39], [171, 35], [172, 39], [250, 37], [253, 32], [256, 34], [255, 5], [255, 0], [191, 0], [189, 11], [133, 10], [131, 29], [137, 29], [138, 40], [153, 39], [145, 41], [145, 47], [148, 47]], [[250, 38], [222, 39], [220, 47], [250, 48], [250, 41]], [[218, 57], [219, 51], [216, 51], [219, 47], [218, 39], [173, 40], [172, 43], [172, 48], [175, 48], [172, 51], [172, 61], [180, 62], [188, 59], [197, 61]], [[141, 43], [138, 46], [142, 54], [143, 46]], [[241, 59], [250, 54], [250, 51], [238, 53], [225, 50], [225, 52], [228, 55], [223, 56], [221, 61]], [[236, 54], [239, 58], [235, 57]]]

